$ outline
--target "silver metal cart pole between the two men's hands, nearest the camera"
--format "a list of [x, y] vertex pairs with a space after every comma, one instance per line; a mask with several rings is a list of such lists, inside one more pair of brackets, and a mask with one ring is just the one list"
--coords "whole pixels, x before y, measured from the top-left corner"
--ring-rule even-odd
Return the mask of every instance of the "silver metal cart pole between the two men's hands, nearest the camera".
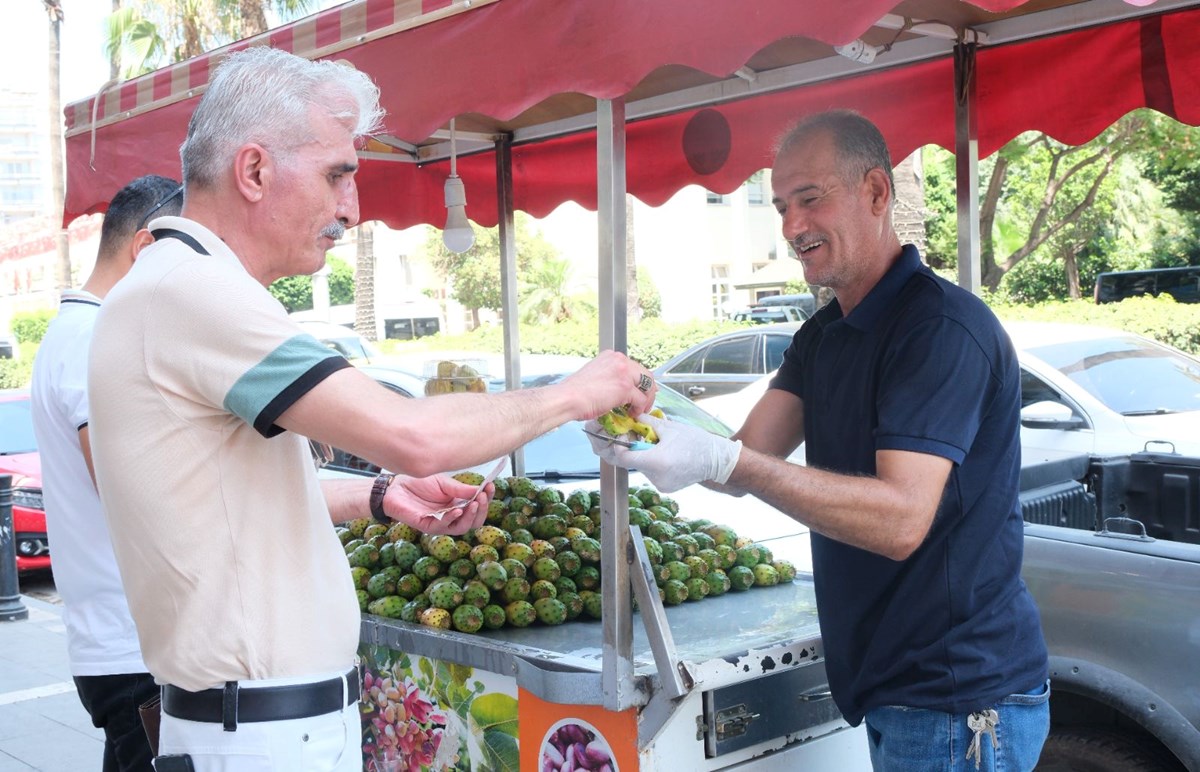
[[[600, 348], [626, 351], [625, 101], [596, 103], [600, 228]], [[600, 594], [604, 609], [604, 706], [634, 705], [634, 611], [629, 585], [629, 473], [600, 465]]]

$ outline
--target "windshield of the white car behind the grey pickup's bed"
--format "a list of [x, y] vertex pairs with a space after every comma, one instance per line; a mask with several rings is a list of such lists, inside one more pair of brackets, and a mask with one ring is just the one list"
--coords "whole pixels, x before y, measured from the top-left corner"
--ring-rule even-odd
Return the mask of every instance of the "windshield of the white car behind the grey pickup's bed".
[[1152, 342], [1112, 336], [1027, 351], [1122, 415], [1200, 411], [1200, 361]]

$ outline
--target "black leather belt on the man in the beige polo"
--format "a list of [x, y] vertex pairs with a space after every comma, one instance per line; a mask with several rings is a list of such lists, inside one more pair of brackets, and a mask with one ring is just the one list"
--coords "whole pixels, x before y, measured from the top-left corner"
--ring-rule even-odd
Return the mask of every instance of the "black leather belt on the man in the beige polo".
[[341, 711], [359, 701], [359, 671], [342, 678], [278, 687], [239, 688], [236, 681], [223, 689], [188, 692], [169, 683], [162, 688], [162, 710], [188, 722], [223, 724], [235, 731], [239, 722], [283, 722]]

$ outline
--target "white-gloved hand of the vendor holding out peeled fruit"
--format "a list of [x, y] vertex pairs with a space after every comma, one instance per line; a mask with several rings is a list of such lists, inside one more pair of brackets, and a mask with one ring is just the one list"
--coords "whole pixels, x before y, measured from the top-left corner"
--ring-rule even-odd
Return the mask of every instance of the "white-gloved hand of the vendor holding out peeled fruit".
[[[742, 441], [726, 439], [690, 424], [653, 415], [641, 415], [637, 420], [654, 429], [659, 436], [656, 445], [649, 450], [630, 450], [589, 436], [592, 450], [613, 466], [637, 469], [664, 493], [706, 480], [724, 484], [738, 465]], [[596, 421], [588, 421], [587, 429], [604, 433]]]

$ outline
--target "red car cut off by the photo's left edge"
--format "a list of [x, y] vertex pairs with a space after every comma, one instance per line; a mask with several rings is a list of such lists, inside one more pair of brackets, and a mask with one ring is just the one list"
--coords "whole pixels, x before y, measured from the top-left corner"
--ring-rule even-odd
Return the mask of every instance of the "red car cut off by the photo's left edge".
[[29, 389], [0, 390], [0, 474], [12, 475], [12, 526], [17, 570], [50, 567], [42, 509], [42, 462], [34, 438]]

